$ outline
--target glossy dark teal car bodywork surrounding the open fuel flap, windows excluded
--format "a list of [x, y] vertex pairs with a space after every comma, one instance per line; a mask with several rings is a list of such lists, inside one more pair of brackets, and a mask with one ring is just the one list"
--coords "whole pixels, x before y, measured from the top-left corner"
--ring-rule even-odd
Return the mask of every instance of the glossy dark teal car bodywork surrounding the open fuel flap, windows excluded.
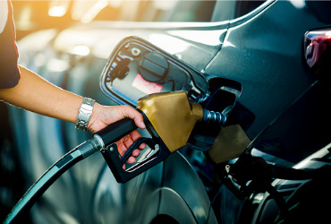
[[[18, 44], [21, 63], [50, 82], [115, 105], [99, 89], [106, 58], [126, 36], [147, 39], [208, 79], [241, 82], [239, 102], [256, 117], [246, 130], [254, 139], [315, 82], [303, 66], [301, 39], [307, 30], [324, 25], [305, 7], [267, 1], [231, 21], [91, 22], [60, 32], [38, 31]], [[72, 54], [81, 45], [89, 47], [89, 56]], [[10, 112], [26, 187], [91, 136], [52, 118], [18, 108]], [[149, 223], [160, 214], [180, 223], [216, 223], [218, 211], [210, 206], [204, 184], [180, 153], [123, 185], [97, 153], [60, 177], [31, 215], [36, 223]]]

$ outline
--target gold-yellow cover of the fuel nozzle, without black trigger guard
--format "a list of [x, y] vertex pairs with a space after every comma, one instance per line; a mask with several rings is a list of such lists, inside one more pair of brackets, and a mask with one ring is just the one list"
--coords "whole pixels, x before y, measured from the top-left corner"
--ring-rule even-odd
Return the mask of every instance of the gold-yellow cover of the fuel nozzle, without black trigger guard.
[[186, 145], [203, 117], [203, 108], [191, 103], [183, 91], [150, 94], [138, 100], [137, 109], [149, 119], [149, 131], [154, 129], [170, 152]]

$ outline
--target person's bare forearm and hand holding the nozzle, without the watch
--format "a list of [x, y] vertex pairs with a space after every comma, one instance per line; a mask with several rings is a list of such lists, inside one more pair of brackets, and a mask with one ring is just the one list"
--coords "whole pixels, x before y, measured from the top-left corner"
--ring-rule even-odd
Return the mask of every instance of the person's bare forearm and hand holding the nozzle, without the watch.
[[[47, 82], [37, 73], [33, 73], [22, 66], [20, 66], [20, 70], [20, 82], [13, 88], [0, 89], [0, 99], [13, 106], [24, 108], [40, 115], [54, 117], [73, 124], [76, 123], [83, 101], [81, 96]], [[98, 132], [106, 125], [110, 125], [124, 117], [132, 118], [138, 127], [145, 128], [140, 113], [130, 106], [106, 107], [95, 103], [92, 115], [89, 118], [89, 131], [92, 133]], [[141, 135], [138, 131], [133, 131], [128, 136], [117, 142], [121, 154]], [[140, 145], [140, 149], [144, 148], [145, 144]], [[132, 152], [134, 157], [139, 154], [139, 150]], [[130, 158], [128, 161], [132, 163], [134, 160], [134, 158]]]

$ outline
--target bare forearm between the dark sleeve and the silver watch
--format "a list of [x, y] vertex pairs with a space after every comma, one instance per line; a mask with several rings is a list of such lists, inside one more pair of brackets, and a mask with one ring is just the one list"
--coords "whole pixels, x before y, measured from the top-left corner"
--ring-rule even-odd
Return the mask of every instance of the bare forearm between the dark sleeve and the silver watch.
[[40, 115], [76, 123], [81, 96], [56, 87], [24, 67], [20, 69], [20, 82], [11, 89], [0, 90], [0, 99]]

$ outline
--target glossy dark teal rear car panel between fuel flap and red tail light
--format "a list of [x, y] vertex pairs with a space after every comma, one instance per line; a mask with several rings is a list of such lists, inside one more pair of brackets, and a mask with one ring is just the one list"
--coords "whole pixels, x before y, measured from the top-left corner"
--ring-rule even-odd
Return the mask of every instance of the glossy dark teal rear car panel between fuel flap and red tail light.
[[256, 116], [248, 130], [251, 139], [315, 82], [301, 58], [302, 37], [323, 25], [309, 11], [281, 1], [227, 31], [205, 72], [242, 83], [239, 101]]

